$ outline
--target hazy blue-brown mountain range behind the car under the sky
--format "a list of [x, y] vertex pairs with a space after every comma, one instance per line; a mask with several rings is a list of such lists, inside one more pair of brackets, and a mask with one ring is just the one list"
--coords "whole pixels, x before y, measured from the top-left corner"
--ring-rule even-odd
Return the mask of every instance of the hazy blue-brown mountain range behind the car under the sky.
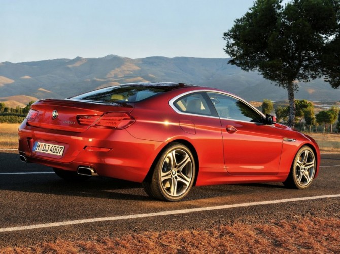
[[[66, 98], [97, 88], [131, 82], [181, 82], [220, 88], [246, 100], [287, 99], [287, 91], [228, 64], [228, 58], [147, 57], [53, 59], [0, 63], [0, 102], [23, 106], [31, 100]], [[299, 83], [296, 99], [339, 101], [340, 89], [323, 79]]]

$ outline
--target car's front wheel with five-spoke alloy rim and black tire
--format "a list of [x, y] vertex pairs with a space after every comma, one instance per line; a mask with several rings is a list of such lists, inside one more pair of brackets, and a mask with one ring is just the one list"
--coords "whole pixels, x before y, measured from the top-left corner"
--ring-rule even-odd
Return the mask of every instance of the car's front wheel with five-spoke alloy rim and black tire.
[[306, 189], [312, 184], [315, 170], [315, 154], [310, 147], [303, 146], [297, 152], [288, 178], [283, 184], [289, 188]]

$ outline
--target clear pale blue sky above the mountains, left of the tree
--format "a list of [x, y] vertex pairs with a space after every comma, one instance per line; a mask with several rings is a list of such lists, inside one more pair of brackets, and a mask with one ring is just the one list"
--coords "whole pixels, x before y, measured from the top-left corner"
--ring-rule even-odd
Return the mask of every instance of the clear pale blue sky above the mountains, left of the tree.
[[0, 62], [228, 57], [223, 32], [253, 0], [0, 0]]

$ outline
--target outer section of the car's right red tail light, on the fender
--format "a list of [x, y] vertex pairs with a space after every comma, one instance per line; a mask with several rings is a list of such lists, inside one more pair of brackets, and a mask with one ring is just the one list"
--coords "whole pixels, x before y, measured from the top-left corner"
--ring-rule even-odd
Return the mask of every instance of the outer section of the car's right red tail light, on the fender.
[[95, 124], [97, 127], [124, 129], [135, 122], [135, 119], [128, 113], [110, 112], [106, 113]]

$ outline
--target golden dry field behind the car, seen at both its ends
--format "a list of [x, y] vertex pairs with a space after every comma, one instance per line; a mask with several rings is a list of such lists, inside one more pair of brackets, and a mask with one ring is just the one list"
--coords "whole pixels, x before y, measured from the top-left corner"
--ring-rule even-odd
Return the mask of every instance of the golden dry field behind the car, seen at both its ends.
[[[0, 148], [18, 147], [18, 127], [20, 124], [0, 123]], [[339, 133], [307, 133], [320, 146], [321, 152], [340, 152]]]

